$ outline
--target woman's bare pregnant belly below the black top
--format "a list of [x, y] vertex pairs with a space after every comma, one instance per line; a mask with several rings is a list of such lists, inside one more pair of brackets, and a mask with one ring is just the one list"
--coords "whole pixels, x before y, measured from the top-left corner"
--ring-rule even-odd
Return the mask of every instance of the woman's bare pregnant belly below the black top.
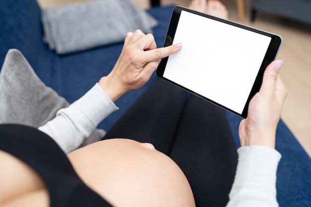
[[195, 206], [181, 169], [152, 144], [107, 139], [68, 157], [83, 182], [113, 206]]

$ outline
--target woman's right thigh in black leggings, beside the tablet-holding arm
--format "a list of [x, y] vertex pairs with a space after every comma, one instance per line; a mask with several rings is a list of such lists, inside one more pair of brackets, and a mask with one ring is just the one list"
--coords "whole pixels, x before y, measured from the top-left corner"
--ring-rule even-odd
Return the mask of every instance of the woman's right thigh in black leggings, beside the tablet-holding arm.
[[169, 155], [183, 170], [197, 207], [224, 207], [237, 164], [225, 111], [193, 96], [181, 117]]

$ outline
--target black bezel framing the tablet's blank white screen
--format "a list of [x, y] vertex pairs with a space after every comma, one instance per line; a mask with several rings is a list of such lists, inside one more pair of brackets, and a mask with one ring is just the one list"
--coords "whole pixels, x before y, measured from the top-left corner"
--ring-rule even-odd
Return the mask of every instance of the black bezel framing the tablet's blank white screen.
[[263, 77], [263, 73], [264, 73], [264, 70], [266, 69], [266, 67], [273, 61], [275, 60], [279, 50], [280, 50], [280, 47], [282, 45], [282, 37], [279, 36], [279, 35], [276, 35], [276, 34], [273, 34], [273, 33], [269, 33], [269, 32], [266, 32], [266, 31], [262, 31], [262, 30], [259, 30], [259, 29], [256, 29], [256, 28], [253, 28], [253, 27], [249, 27], [249, 26], [246, 26], [246, 25], [243, 25], [243, 24], [239, 24], [239, 23], [236, 23], [236, 22], [232, 22], [232, 21], [229, 21], [229, 20], [225, 20], [225, 19], [221, 19], [221, 18], [218, 18], [218, 17], [215, 17], [215, 16], [211, 16], [211, 15], [208, 15], [208, 14], [205, 14], [205, 13], [201, 13], [201, 12], [198, 12], [198, 11], [194, 11], [194, 10], [191, 10], [191, 9], [188, 9], [188, 8], [185, 8], [185, 7], [182, 7], [182, 6], [175, 6], [174, 9], [173, 9], [173, 12], [172, 12], [172, 16], [171, 16], [171, 20], [170, 20], [170, 23], [169, 23], [169, 26], [168, 26], [168, 30], [167, 30], [167, 34], [166, 34], [166, 38], [165, 38], [165, 42], [164, 42], [164, 47], [166, 46], [169, 46], [169, 45], [172, 45], [172, 42], [174, 40], [174, 36], [175, 36], [175, 32], [176, 32], [176, 29], [177, 29], [177, 25], [178, 25], [178, 21], [179, 21], [179, 17], [180, 17], [180, 14], [181, 14], [181, 11], [184, 10], [184, 11], [188, 11], [188, 12], [191, 12], [193, 14], [197, 14], [197, 15], [200, 15], [200, 16], [203, 16], [203, 17], [206, 17], [206, 18], [210, 18], [210, 19], [213, 19], [215, 21], [220, 21], [220, 22], [223, 22], [223, 23], [226, 23], [226, 24], [230, 24], [230, 25], [233, 25], [233, 26], [236, 26], [236, 27], [239, 27], [241, 29], [246, 29], [246, 30], [249, 30], [249, 31], [252, 31], [252, 32], [256, 32], [258, 34], [262, 34], [262, 35], [265, 35], [265, 36], [268, 36], [268, 37], [271, 37], [271, 41], [270, 41], [270, 44], [269, 44], [269, 47], [267, 49], [267, 52], [264, 56], [264, 59], [262, 61], [262, 64], [261, 64], [261, 67], [258, 71], [258, 74], [256, 76], [256, 79], [254, 81], [254, 84], [252, 86], [252, 89], [249, 93], [249, 96], [247, 98], [247, 101], [246, 101], [246, 104], [244, 106], [244, 109], [242, 111], [241, 114], [213, 101], [213, 100], [210, 100], [208, 99], [207, 97], [204, 97], [198, 93], [196, 93], [195, 91], [192, 91], [192, 90], [189, 90], [188, 88], [185, 88], [183, 87], [182, 85], [179, 85], [165, 77], [163, 77], [163, 73], [164, 73], [164, 70], [165, 70], [165, 67], [166, 67], [166, 64], [167, 64], [167, 60], [168, 60], [168, 57], [166, 58], [163, 58], [156, 70], [156, 74], [158, 77], [200, 97], [200, 98], [203, 98], [221, 108], [224, 108], [242, 118], [246, 118], [247, 117], [247, 111], [248, 111], [248, 105], [249, 105], [249, 102], [251, 100], [251, 98], [259, 91], [260, 89], [260, 86], [261, 86], [261, 83], [262, 83], [262, 77]]

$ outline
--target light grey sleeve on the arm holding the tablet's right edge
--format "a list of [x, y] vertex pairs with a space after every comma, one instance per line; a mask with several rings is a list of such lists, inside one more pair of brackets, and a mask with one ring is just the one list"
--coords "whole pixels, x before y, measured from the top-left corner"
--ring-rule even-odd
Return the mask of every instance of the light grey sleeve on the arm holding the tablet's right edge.
[[276, 171], [281, 154], [264, 146], [243, 146], [227, 207], [278, 207]]

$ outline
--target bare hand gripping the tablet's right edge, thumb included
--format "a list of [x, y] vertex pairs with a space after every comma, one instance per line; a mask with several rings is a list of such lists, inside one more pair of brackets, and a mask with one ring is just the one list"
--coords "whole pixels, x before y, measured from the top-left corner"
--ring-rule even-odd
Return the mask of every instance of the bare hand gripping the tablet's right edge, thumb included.
[[239, 126], [241, 146], [262, 145], [275, 148], [276, 128], [287, 95], [279, 75], [282, 64], [282, 61], [273, 61], [266, 68], [260, 90], [249, 103], [248, 116]]

